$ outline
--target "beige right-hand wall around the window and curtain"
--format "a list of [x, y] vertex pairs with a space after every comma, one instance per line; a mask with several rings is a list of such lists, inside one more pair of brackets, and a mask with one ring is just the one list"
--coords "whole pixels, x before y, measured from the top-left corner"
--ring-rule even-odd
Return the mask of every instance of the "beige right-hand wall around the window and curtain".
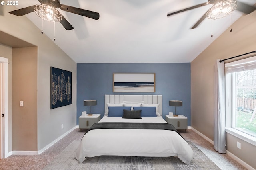
[[[217, 59], [241, 55], [256, 50], [256, 11], [242, 16], [196, 59], [191, 62], [191, 126], [213, 140], [214, 123], [214, 64]], [[200, 35], [199, 35], [200, 36]], [[210, 37], [209, 37], [210, 38]], [[236, 150], [234, 137], [227, 137], [227, 149], [250, 166], [256, 162], [248, 155], [256, 152], [256, 146], [241, 141], [245, 148]], [[253, 150], [248, 153], [247, 150]], [[241, 155], [248, 155], [247, 157]]]

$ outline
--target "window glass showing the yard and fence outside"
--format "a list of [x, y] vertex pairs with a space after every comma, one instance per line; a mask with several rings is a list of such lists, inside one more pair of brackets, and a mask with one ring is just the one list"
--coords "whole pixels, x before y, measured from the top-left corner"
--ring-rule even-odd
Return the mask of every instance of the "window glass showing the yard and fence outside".
[[235, 76], [236, 108], [234, 128], [256, 136], [256, 69], [232, 73]]

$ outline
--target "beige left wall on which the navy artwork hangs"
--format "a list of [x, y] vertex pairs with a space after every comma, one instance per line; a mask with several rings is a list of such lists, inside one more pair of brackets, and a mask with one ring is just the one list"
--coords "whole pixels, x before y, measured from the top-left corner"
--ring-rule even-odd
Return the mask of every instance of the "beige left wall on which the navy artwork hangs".
[[[41, 34], [41, 30], [36, 27], [26, 16], [14, 16], [9, 14], [9, 11], [16, 10], [14, 6], [2, 6], [3, 15], [0, 15], [0, 31], [12, 35], [20, 40], [26, 41], [38, 47], [37, 51], [37, 127], [36, 132], [30, 131], [30, 133], [37, 134], [37, 150], [42, 150], [44, 147], [49, 146], [52, 142], [64, 135], [67, 131], [76, 126], [76, 63], [62, 51], [52, 39], [49, 39], [45, 34]], [[39, 18], [40, 19], [40, 18]], [[67, 32], [68, 33], [68, 32]], [[64, 35], [63, 35], [64, 36]], [[56, 37], [57, 39], [57, 37]], [[56, 40], [58, 41], [58, 40]], [[1, 40], [2, 42], [2, 40]], [[3, 42], [2, 42], [3, 43]], [[1, 46], [0, 46], [1, 48]], [[8, 47], [10, 50], [10, 47]], [[12, 55], [12, 52], [8, 51], [8, 55]], [[1, 52], [0, 52], [1, 54]], [[1, 56], [5, 57], [5, 56]], [[11, 56], [12, 59], [12, 56]], [[11, 61], [12, 62], [12, 61]], [[11, 63], [12, 64], [12, 63]], [[59, 107], [56, 109], [50, 109], [50, 67], [56, 67], [63, 70], [72, 72], [72, 104], [68, 106]], [[11, 73], [11, 72], [8, 72]], [[12, 75], [8, 75], [12, 79]], [[9, 79], [9, 81], [10, 81]], [[9, 86], [10, 84], [8, 84]], [[14, 96], [15, 94], [8, 94]], [[18, 99], [20, 100], [20, 99]], [[23, 99], [22, 99], [23, 100]], [[12, 107], [12, 102], [9, 102], [9, 107]], [[26, 104], [26, 101], [24, 101]], [[21, 109], [21, 108], [20, 108]], [[23, 108], [24, 109], [24, 108]], [[8, 115], [10, 115], [10, 110]], [[12, 123], [12, 119], [16, 120], [14, 113], [9, 117], [8, 121], [10, 129], [18, 129], [20, 125]], [[33, 117], [34, 119], [35, 117]], [[24, 119], [24, 123], [28, 123], [30, 119]], [[61, 129], [61, 125], [64, 128]], [[11, 126], [11, 127], [10, 127]], [[35, 126], [34, 124], [32, 126]], [[27, 128], [24, 124], [20, 128]], [[14, 133], [14, 130], [12, 130]], [[15, 132], [16, 133], [16, 132]], [[11, 133], [9, 133], [10, 137]], [[20, 136], [22, 141], [27, 140], [27, 136]], [[13, 139], [14, 140], [14, 139]], [[15, 139], [16, 140], [16, 139]], [[34, 140], [34, 137], [33, 137]], [[12, 141], [15, 143], [15, 149], [28, 150], [23, 143], [18, 141]], [[12, 145], [9, 140], [9, 146]], [[32, 147], [34, 150], [34, 146]], [[14, 149], [12, 149], [14, 150]]]

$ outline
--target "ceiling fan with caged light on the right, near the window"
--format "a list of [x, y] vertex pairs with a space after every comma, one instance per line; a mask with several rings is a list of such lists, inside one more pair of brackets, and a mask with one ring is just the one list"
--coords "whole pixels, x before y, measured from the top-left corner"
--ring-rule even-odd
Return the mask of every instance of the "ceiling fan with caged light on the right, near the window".
[[[233, 10], [235, 10], [235, 9], [237, 9], [245, 14], [250, 14], [251, 12], [256, 10], [256, 8], [254, 6], [245, 4], [243, 2], [235, 1], [235, 0], [209, 0], [208, 2], [204, 2], [202, 4], [191, 6], [189, 8], [178, 10], [176, 12], [168, 13], [167, 16], [172, 16], [172, 15], [178, 14], [180, 12], [185, 12], [185, 11], [192, 10], [194, 8], [199, 8], [201, 6], [206, 6], [209, 4], [212, 4], [213, 6], [190, 29], [196, 28], [206, 17], [208, 17], [210, 19], [222, 18], [224, 16], [227, 16], [228, 14], [231, 14], [233, 12]], [[225, 11], [224, 10], [225, 8], [228, 8], [229, 11], [228, 12]], [[212, 16], [212, 13], [218, 12], [218, 10], [222, 10], [222, 11], [218, 14], [214, 14], [215, 16]]]

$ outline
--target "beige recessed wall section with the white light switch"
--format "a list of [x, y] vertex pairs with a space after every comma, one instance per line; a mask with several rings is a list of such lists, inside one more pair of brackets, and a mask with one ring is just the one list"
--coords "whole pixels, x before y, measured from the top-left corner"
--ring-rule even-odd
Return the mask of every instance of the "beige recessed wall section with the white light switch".
[[16, 151], [37, 151], [37, 53], [37, 47], [12, 49], [12, 149]]

